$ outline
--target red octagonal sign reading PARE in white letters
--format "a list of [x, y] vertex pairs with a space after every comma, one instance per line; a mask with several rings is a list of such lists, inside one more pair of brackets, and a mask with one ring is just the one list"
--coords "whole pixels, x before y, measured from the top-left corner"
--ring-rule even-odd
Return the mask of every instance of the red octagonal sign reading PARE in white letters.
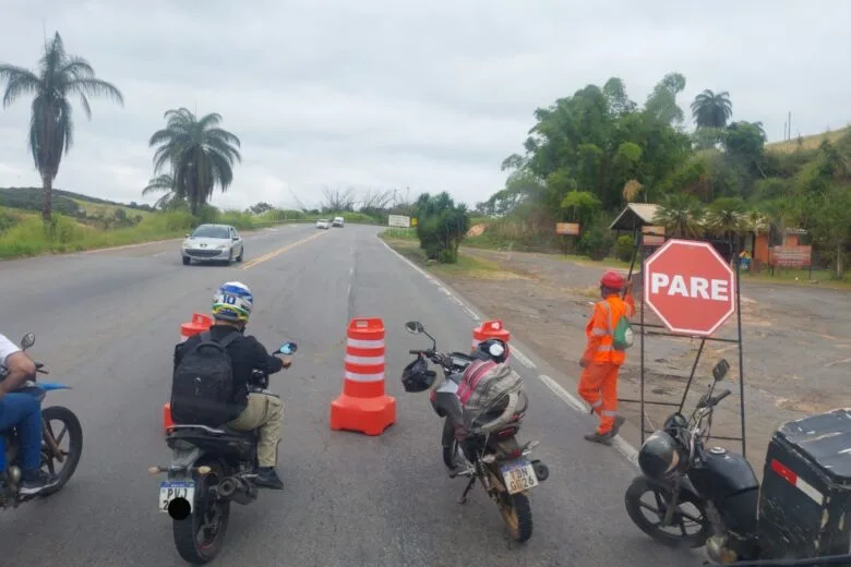
[[645, 261], [644, 301], [671, 333], [708, 337], [735, 313], [735, 273], [708, 242], [671, 239]]

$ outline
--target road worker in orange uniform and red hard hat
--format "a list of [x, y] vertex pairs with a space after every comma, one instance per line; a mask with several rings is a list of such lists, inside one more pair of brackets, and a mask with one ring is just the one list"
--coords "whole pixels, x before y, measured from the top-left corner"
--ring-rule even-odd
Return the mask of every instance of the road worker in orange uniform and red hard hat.
[[[600, 279], [602, 301], [594, 305], [594, 313], [585, 327], [588, 345], [579, 360], [583, 367], [578, 393], [600, 417], [597, 431], [585, 436], [592, 443], [611, 445], [624, 421], [618, 410], [618, 374], [626, 360], [623, 350], [613, 346], [614, 330], [622, 316], [635, 314], [632, 279], [614, 270], [608, 270]], [[622, 293], [625, 294], [622, 299]]]

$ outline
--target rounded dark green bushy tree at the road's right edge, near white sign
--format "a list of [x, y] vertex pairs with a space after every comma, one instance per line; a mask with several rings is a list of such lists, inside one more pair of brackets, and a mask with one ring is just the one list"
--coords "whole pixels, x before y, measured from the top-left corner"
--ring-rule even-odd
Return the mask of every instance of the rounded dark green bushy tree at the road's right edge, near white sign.
[[417, 238], [429, 260], [442, 264], [458, 261], [458, 246], [470, 230], [470, 215], [464, 204], [456, 205], [445, 191], [438, 195], [423, 193], [415, 205]]

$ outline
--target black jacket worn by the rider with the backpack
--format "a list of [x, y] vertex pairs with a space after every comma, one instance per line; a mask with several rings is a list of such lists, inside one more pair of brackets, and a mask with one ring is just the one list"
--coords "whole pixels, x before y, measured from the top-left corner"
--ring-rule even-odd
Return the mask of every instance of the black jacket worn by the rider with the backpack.
[[[209, 327], [209, 333], [213, 339], [221, 340], [231, 333], [241, 333], [236, 327], [230, 325], [213, 325]], [[191, 349], [193, 346], [201, 342], [201, 336], [194, 335], [190, 337], [185, 342], [181, 342], [175, 347], [175, 370], [177, 370], [180, 360], [183, 358], [183, 353], [187, 349]], [[233, 394], [232, 402], [236, 406], [235, 409], [241, 411], [247, 406], [248, 398], [248, 384], [251, 378], [251, 371], [253, 369], [262, 370], [267, 374], [274, 374], [284, 367], [284, 362], [272, 357], [266, 347], [264, 347], [257, 339], [251, 335], [237, 337], [227, 347], [228, 354], [230, 354], [231, 367], [233, 370]], [[235, 414], [239, 412], [235, 411]]]

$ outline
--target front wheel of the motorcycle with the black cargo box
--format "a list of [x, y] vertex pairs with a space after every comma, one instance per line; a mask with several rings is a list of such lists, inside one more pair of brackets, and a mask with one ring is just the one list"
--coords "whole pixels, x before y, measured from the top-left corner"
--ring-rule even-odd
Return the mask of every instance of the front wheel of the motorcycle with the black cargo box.
[[[652, 502], [647, 504], [643, 496], [652, 495]], [[703, 503], [695, 502], [684, 492], [680, 493], [676, 510], [674, 510], [671, 524], [662, 526], [662, 520], [669, 504], [673, 500], [673, 492], [670, 488], [651, 482], [647, 476], [636, 476], [624, 496], [626, 514], [639, 530], [668, 547], [696, 548], [703, 547], [709, 538], [711, 524], [706, 517], [706, 508]], [[696, 512], [683, 509], [690, 505]], [[645, 510], [652, 514], [652, 520], [645, 515]], [[694, 533], [687, 533], [686, 524], [696, 526]], [[680, 533], [664, 531], [673, 529]]]

